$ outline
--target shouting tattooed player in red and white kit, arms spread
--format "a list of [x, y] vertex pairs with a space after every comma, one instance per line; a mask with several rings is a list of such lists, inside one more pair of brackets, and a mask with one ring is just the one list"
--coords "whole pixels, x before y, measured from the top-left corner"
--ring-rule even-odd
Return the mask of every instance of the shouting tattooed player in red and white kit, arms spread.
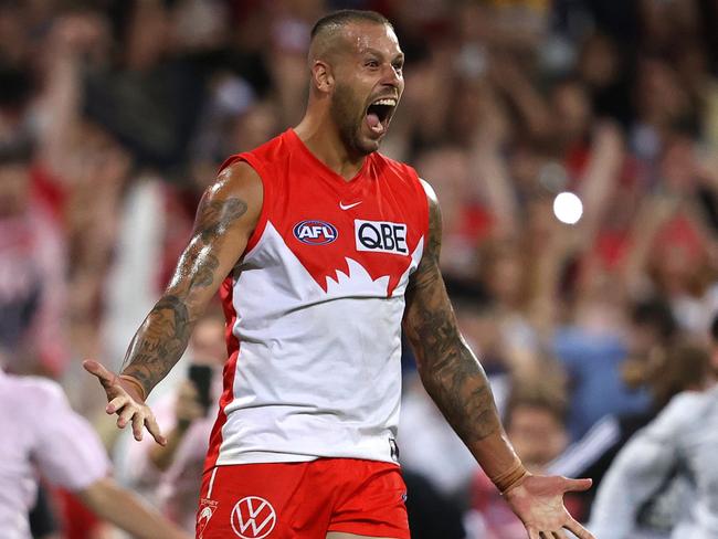
[[118, 426], [165, 443], [145, 398], [221, 288], [230, 358], [198, 537], [409, 538], [394, 443], [402, 324], [426, 390], [528, 536], [592, 537], [562, 504], [590, 482], [531, 476], [506, 438], [446, 297], [431, 187], [377, 152], [402, 66], [380, 14], [320, 19], [304, 119], [224, 163], [122, 374], [85, 363]]

